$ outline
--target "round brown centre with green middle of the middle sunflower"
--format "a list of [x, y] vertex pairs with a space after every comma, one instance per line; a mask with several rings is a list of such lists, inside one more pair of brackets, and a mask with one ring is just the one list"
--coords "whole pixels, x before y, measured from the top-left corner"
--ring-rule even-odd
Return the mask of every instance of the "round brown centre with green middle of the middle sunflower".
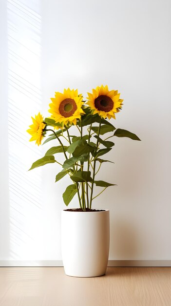
[[59, 105], [59, 112], [65, 118], [72, 116], [76, 109], [76, 102], [71, 98], [64, 99]]

